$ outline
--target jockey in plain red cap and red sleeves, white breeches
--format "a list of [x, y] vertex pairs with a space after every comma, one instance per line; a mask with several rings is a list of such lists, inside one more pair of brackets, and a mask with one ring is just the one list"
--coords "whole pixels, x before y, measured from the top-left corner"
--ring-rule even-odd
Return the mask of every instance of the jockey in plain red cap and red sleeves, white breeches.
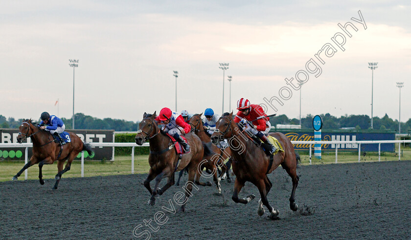
[[160, 115], [156, 118], [164, 124], [162, 131], [172, 135], [183, 146], [184, 152], [190, 151], [190, 146], [184, 141], [180, 134], [188, 133], [191, 130], [190, 125], [184, 122], [180, 113], [171, 111], [169, 108], [160, 110]]

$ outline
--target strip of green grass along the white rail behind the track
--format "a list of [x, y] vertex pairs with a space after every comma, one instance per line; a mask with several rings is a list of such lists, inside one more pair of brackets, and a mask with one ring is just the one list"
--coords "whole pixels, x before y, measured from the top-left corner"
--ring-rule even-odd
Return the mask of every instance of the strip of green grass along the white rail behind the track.
[[[411, 159], [411, 148], [401, 148], [403, 155], [401, 160]], [[298, 152], [301, 157], [301, 165], [309, 165], [308, 151]], [[322, 158], [317, 159], [312, 155], [311, 164], [332, 164], [335, 163], [335, 151], [322, 152]], [[128, 175], [131, 174], [131, 156], [115, 156], [114, 161], [85, 161], [84, 176], [107, 176], [107, 175]], [[361, 162], [378, 161], [378, 152], [367, 152], [365, 156], [361, 154]], [[398, 161], [397, 153], [381, 153], [381, 161]], [[358, 152], [338, 152], [338, 163], [358, 162]], [[24, 161], [0, 161], [0, 181], [9, 181], [24, 166]], [[134, 173], [148, 173], [148, 155], [135, 155]], [[43, 166], [43, 178], [54, 178], [57, 173], [57, 163]], [[28, 169], [28, 179], [39, 178], [39, 167], [34, 165]], [[67, 177], [81, 177], [81, 162], [73, 161], [71, 169], [63, 175]], [[24, 172], [19, 177], [24, 179]]]

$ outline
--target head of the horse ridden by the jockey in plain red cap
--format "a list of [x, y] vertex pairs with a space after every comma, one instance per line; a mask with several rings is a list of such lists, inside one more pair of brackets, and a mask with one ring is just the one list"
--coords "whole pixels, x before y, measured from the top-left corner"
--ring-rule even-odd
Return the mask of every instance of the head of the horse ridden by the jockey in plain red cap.
[[148, 139], [154, 137], [160, 132], [159, 127], [156, 123], [156, 112], [153, 114], [147, 114], [144, 112], [143, 120], [139, 124], [139, 128], [136, 134], [136, 143], [142, 145]]

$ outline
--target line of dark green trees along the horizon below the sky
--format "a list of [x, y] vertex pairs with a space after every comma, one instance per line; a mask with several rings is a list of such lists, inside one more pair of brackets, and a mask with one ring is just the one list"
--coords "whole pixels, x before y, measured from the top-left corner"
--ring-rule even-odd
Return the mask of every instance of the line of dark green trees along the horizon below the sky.
[[[341, 117], [332, 116], [329, 113], [320, 115], [323, 121], [323, 129], [341, 129], [355, 128], [357, 130], [371, 129], [371, 118], [368, 115], [347, 115]], [[302, 129], [313, 128], [314, 116], [308, 114], [301, 118]], [[40, 119], [34, 119], [40, 122]], [[66, 125], [66, 129], [72, 128], [72, 118], [62, 118]], [[13, 117], [6, 118], [0, 115], [0, 128], [19, 128], [23, 119], [15, 119]], [[139, 122], [125, 121], [121, 119], [104, 118], [99, 119], [83, 113], [74, 115], [74, 124], [76, 129], [99, 129], [99, 130], [114, 130], [114, 131], [137, 131]], [[294, 124], [299, 125], [299, 119], [288, 118], [285, 114], [270, 118], [270, 123], [275, 128], [277, 124]], [[388, 130], [398, 132], [398, 120], [392, 120], [386, 114], [384, 117], [373, 117], [373, 127], [375, 130]], [[407, 122], [401, 122], [401, 133], [408, 133], [411, 130], [411, 118]]]

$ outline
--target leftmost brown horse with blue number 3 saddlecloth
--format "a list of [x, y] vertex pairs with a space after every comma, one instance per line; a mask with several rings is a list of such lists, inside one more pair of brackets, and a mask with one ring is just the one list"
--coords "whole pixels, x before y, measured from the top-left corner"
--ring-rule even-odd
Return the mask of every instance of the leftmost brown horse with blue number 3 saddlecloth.
[[[54, 141], [53, 135], [49, 131], [40, 130], [40, 128], [31, 122], [31, 119], [26, 119], [23, 121], [22, 125], [19, 127], [19, 135], [17, 135], [17, 142], [22, 143], [26, 138], [31, 139], [33, 143], [33, 155], [30, 157], [30, 161], [24, 165], [22, 170], [18, 172], [12, 180], [17, 180], [17, 178], [23, 173], [24, 170], [39, 163], [39, 179], [40, 184], [44, 184], [42, 168], [44, 164], [53, 164], [54, 161], [58, 160], [57, 163], [57, 175], [55, 177], [56, 183], [52, 189], [57, 189], [61, 175], [70, 170], [71, 162], [81, 151], [86, 150], [89, 154], [92, 154], [92, 150], [89, 144], [84, 143], [76, 134], [69, 132], [70, 142], [65, 144], [63, 147], [60, 142]], [[67, 161], [66, 167], [63, 170], [64, 162]]]

